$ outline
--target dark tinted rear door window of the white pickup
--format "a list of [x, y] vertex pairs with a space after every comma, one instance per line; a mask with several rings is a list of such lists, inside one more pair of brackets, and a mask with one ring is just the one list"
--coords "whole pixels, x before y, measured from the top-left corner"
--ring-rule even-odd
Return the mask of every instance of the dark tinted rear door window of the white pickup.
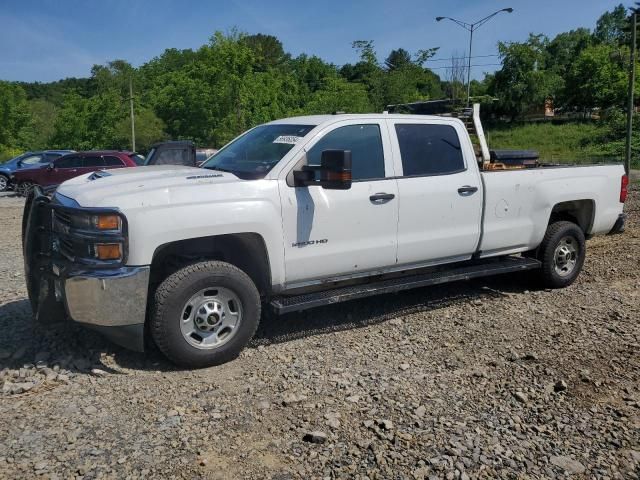
[[460, 139], [450, 125], [396, 124], [405, 177], [465, 170]]

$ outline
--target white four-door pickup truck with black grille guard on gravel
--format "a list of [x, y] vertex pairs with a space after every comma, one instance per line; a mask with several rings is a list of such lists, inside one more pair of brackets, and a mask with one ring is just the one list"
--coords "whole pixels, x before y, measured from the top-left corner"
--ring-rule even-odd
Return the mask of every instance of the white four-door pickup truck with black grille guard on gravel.
[[33, 310], [202, 367], [266, 306], [522, 270], [564, 287], [585, 238], [623, 229], [622, 166], [488, 166], [455, 118], [323, 115], [257, 126], [204, 168], [80, 176], [25, 206]]

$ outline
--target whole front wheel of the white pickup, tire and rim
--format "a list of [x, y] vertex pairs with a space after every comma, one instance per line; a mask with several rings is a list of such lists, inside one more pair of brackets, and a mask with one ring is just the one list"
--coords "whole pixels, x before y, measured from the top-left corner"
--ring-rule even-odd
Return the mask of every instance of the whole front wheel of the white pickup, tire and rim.
[[242, 351], [260, 321], [260, 295], [249, 276], [217, 261], [195, 263], [158, 287], [150, 318], [156, 345], [188, 368], [228, 362]]

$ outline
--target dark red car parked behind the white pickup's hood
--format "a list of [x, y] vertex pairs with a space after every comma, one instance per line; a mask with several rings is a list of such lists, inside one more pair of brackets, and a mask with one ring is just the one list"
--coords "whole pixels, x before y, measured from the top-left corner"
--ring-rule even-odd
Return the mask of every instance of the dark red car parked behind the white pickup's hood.
[[136, 167], [136, 154], [115, 150], [92, 150], [70, 153], [41, 168], [18, 170], [13, 175], [13, 184], [20, 195], [25, 195], [34, 185], [51, 187], [65, 180], [110, 168]]

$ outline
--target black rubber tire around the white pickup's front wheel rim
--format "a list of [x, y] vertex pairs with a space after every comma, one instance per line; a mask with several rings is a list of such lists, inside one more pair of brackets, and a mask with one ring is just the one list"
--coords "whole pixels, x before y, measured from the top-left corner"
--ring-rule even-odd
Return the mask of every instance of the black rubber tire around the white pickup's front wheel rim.
[[[197, 292], [216, 287], [237, 296], [241, 318], [226, 343], [211, 349], [197, 348], [181, 330], [185, 304]], [[246, 273], [225, 262], [200, 262], [178, 270], [160, 284], [154, 296], [149, 330], [157, 347], [173, 363], [187, 368], [210, 367], [240, 354], [258, 328], [260, 310], [260, 294]]]

